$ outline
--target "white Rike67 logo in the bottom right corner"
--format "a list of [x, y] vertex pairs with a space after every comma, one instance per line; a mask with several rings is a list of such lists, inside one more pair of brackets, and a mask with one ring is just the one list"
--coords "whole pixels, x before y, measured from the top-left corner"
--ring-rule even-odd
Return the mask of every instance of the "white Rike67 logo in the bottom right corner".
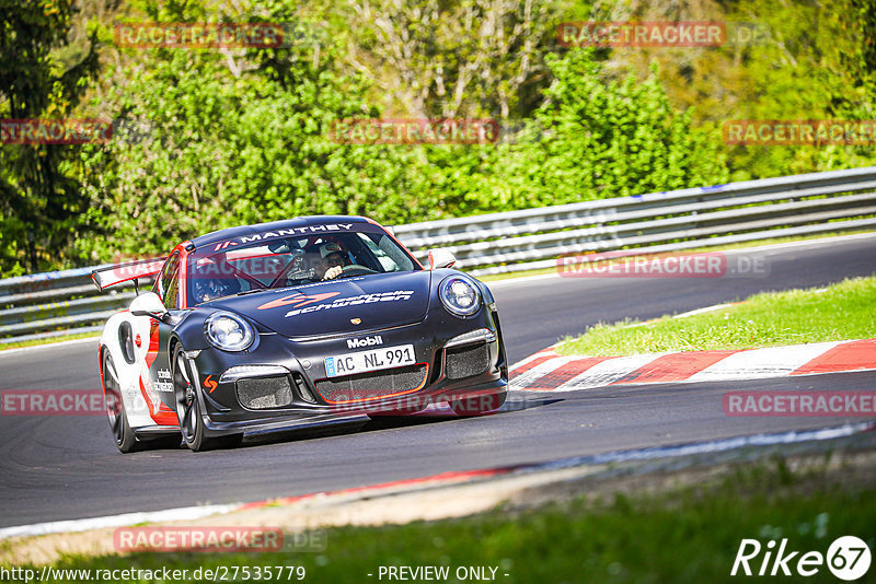
[[791, 551], [787, 538], [782, 539], [779, 546], [774, 539], [765, 546], [757, 539], [742, 539], [730, 575], [808, 577], [827, 564], [834, 576], [851, 582], [867, 573], [871, 559], [869, 547], [855, 536], [838, 537], [828, 548], [827, 556], [820, 551]]

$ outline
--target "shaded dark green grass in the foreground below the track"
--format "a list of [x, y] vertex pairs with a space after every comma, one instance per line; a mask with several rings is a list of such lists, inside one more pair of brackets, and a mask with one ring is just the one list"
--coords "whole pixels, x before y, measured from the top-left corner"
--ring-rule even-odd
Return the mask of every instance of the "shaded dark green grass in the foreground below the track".
[[[742, 538], [758, 538], [765, 546], [770, 539], [787, 537], [788, 551], [822, 554], [844, 535], [874, 546], [876, 505], [868, 482], [873, 477], [850, 480], [853, 476], [844, 469], [831, 474], [826, 460], [794, 470], [793, 464], [774, 458], [733, 467], [708, 484], [659, 494], [603, 490], [614, 494], [528, 511], [499, 509], [462, 519], [334, 528], [326, 532], [326, 549], [319, 553], [138, 553], [68, 557], [57, 565], [102, 570], [303, 565], [304, 582], [334, 584], [380, 582], [381, 565], [448, 565], [451, 574], [459, 567], [494, 567], [496, 582], [508, 584], [760, 582], [764, 579], [729, 575]], [[752, 563], [756, 570], [759, 565]], [[873, 582], [874, 573], [871, 569], [858, 582]], [[826, 567], [805, 580], [837, 582]]]

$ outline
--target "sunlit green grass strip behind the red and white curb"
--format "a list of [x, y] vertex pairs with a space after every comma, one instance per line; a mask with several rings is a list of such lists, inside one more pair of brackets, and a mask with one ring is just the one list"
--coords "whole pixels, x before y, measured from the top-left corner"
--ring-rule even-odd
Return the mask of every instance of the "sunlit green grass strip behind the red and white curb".
[[600, 324], [557, 351], [627, 355], [872, 338], [876, 337], [874, 306], [876, 277], [855, 278], [825, 291], [756, 294], [742, 304], [684, 318]]

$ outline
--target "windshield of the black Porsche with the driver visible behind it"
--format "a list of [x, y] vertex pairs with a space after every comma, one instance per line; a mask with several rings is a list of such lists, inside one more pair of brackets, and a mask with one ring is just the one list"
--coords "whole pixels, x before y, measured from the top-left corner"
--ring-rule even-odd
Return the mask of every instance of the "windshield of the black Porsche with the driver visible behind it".
[[344, 232], [278, 234], [283, 232], [234, 237], [194, 252], [188, 258], [188, 304], [326, 279], [420, 269], [377, 225], [354, 223]]

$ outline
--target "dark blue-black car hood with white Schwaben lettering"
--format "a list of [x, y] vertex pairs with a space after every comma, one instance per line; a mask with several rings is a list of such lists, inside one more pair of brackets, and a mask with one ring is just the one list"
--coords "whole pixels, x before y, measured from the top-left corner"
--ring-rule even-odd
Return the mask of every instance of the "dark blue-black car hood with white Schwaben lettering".
[[422, 320], [430, 272], [381, 273], [229, 296], [205, 306], [242, 314], [285, 337], [360, 334]]

